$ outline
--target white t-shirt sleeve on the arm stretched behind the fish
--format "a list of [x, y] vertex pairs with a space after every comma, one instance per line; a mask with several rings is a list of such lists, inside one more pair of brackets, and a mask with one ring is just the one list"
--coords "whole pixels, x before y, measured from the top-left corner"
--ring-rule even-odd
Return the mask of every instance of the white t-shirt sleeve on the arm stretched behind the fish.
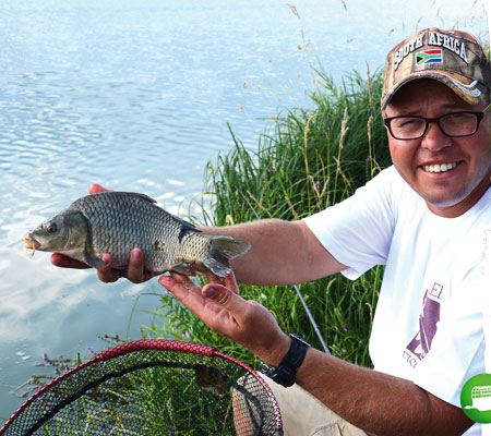
[[324, 247], [349, 267], [343, 271], [349, 279], [385, 265], [397, 214], [393, 199], [403, 183], [390, 167], [351, 197], [303, 219]]

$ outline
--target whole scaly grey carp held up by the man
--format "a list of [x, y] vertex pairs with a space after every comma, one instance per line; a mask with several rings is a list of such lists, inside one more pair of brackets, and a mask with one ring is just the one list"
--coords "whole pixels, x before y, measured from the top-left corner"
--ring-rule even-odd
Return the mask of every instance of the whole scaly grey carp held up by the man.
[[140, 247], [145, 267], [155, 272], [192, 275], [208, 269], [230, 274], [228, 261], [244, 254], [249, 242], [231, 237], [200, 234], [200, 230], [144, 194], [101, 192], [81, 197], [29, 232], [28, 249], [62, 253], [99, 268], [104, 253], [112, 267], [124, 268], [131, 250]]

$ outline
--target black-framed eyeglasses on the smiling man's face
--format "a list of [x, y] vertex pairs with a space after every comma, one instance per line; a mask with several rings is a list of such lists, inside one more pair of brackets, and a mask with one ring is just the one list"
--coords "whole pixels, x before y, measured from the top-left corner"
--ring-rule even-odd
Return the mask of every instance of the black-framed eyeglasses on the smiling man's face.
[[440, 130], [446, 136], [470, 136], [478, 129], [479, 123], [488, 113], [491, 104], [482, 112], [452, 112], [438, 118], [424, 118], [418, 116], [400, 116], [385, 118], [384, 124], [396, 140], [410, 141], [424, 136], [431, 122], [439, 124]]

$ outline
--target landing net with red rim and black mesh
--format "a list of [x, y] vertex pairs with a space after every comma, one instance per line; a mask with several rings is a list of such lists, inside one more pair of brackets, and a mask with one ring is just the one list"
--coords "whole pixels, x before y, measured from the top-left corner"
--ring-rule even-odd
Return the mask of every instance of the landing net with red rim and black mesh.
[[280, 435], [279, 409], [248, 366], [211, 347], [135, 341], [45, 386], [0, 429], [14, 435]]

